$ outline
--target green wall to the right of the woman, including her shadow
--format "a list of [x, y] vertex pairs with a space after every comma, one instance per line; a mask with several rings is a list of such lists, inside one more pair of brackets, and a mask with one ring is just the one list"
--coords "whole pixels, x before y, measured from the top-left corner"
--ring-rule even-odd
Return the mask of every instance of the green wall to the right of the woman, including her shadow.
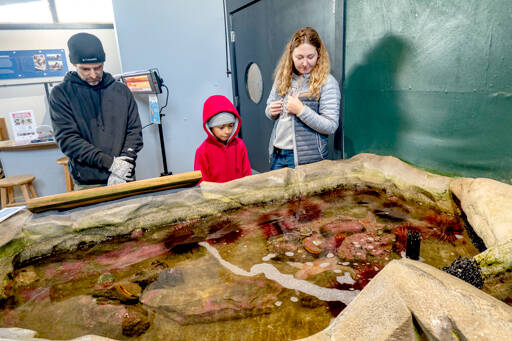
[[345, 156], [512, 178], [512, 1], [346, 0]]

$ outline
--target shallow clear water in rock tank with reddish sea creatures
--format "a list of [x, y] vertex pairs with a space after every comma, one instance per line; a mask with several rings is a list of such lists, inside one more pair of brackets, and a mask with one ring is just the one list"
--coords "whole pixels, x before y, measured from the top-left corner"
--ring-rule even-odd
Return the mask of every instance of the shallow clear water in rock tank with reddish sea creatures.
[[265, 203], [20, 264], [0, 327], [38, 337], [295, 340], [421, 234], [420, 261], [478, 253], [460, 217], [368, 187]]

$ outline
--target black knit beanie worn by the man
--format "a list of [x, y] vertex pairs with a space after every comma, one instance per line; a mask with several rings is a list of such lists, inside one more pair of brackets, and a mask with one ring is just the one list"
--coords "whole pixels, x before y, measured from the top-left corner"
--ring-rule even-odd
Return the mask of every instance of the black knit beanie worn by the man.
[[105, 51], [98, 37], [89, 33], [77, 33], [68, 40], [71, 64], [102, 63]]

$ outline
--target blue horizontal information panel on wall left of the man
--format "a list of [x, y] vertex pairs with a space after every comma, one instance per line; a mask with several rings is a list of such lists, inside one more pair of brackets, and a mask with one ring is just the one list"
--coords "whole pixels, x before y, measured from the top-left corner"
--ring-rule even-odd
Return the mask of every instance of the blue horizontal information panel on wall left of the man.
[[64, 49], [0, 51], [0, 79], [64, 76]]

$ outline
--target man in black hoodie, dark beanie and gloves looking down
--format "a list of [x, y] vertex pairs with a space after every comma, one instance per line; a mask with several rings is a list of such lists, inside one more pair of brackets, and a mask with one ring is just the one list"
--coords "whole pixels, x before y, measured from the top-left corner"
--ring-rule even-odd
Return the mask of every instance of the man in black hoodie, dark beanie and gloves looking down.
[[105, 52], [94, 35], [68, 40], [76, 72], [66, 74], [50, 95], [55, 138], [69, 157], [78, 189], [133, 181], [135, 159], [142, 149], [142, 128], [130, 90], [103, 72]]

